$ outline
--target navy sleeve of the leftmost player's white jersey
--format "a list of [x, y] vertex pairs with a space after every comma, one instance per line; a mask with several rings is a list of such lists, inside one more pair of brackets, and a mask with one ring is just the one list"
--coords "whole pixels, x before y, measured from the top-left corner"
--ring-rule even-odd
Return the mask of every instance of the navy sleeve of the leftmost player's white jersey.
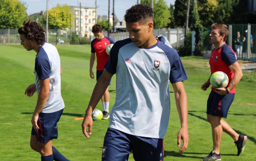
[[45, 52], [40, 51], [36, 56], [35, 70], [40, 80], [50, 78], [50, 61]]

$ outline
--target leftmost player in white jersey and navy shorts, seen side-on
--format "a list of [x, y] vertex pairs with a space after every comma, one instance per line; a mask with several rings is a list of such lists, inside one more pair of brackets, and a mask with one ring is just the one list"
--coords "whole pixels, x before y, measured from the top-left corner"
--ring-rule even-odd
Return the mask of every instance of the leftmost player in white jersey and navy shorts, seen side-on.
[[45, 43], [45, 32], [39, 23], [24, 21], [18, 29], [21, 45], [36, 52], [35, 83], [26, 88], [25, 95], [37, 92], [36, 107], [31, 119], [30, 146], [41, 154], [42, 161], [68, 160], [52, 146], [58, 138], [57, 122], [64, 109], [61, 97], [61, 66], [59, 53], [52, 44]]

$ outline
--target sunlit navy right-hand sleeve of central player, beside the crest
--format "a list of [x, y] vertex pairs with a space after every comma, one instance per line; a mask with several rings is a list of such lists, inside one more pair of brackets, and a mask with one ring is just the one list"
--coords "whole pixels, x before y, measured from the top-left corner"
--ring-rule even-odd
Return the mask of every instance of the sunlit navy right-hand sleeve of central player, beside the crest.
[[170, 76], [169, 76], [170, 82], [177, 83], [177, 82], [188, 79], [186, 70], [176, 50], [162, 43], [160, 43], [158, 47], [165, 52], [170, 62], [170, 66], [171, 66]]

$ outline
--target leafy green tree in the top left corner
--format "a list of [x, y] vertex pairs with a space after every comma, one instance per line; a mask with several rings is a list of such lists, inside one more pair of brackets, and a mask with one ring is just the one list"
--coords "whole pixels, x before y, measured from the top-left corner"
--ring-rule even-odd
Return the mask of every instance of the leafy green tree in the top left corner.
[[18, 0], [0, 0], [0, 28], [19, 28], [27, 18], [26, 7]]

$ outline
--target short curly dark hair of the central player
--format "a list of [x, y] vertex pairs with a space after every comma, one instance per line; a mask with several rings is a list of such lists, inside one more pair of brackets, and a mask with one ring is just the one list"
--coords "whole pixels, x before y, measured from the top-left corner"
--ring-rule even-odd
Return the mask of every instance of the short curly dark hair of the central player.
[[126, 10], [124, 15], [125, 22], [139, 22], [145, 24], [154, 21], [153, 9], [146, 4], [136, 4]]

